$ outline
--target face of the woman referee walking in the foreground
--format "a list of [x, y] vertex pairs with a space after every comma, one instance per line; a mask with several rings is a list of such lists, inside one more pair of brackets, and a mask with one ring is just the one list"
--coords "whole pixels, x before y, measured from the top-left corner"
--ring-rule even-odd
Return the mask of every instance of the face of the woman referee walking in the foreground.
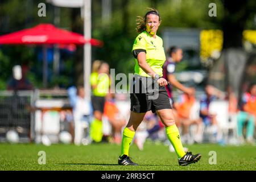
[[155, 15], [155, 14], [147, 15], [146, 29], [147, 29], [147, 32], [150, 35], [155, 35], [156, 34], [156, 31], [158, 31], [159, 25], [160, 25], [160, 22], [159, 22], [159, 16], [158, 15]]

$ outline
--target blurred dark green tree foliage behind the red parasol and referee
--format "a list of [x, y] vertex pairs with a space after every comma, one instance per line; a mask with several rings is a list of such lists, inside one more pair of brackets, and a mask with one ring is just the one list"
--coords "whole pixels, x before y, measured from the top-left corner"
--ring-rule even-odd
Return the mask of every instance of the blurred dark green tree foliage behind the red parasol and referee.
[[[42, 0], [1, 0], [0, 35], [35, 26], [39, 23], [54, 23], [55, 8], [46, 3], [47, 16], [38, 16], [38, 3]], [[92, 37], [104, 42], [104, 47], [92, 48], [92, 60], [105, 60], [115, 72], [133, 73], [134, 58], [131, 47], [137, 36], [136, 18], [143, 16], [147, 7], [155, 7], [162, 16], [161, 28], [184, 27], [202, 29], [221, 29], [224, 6], [221, 0], [112, 0], [110, 19], [102, 17], [102, 1], [92, 1]], [[209, 3], [216, 3], [217, 17], [209, 17]], [[82, 33], [83, 24], [80, 9], [59, 7], [59, 27]], [[246, 26], [253, 26], [253, 16], [249, 15]], [[5, 89], [4, 82], [11, 76], [14, 64], [20, 62], [31, 65], [30, 78], [38, 87], [42, 86], [42, 65], [38, 62], [38, 47], [0, 46], [0, 89]], [[82, 82], [82, 47], [76, 53], [64, 56], [60, 76], [49, 75], [50, 86], [67, 87]], [[50, 65], [51, 66], [51, 65]], [[41, 67], [41, 68], [39, 68]], [[51, 68], [50, 68], [51, 69]], [[51, 72], [50, 72], [51, 73]]]

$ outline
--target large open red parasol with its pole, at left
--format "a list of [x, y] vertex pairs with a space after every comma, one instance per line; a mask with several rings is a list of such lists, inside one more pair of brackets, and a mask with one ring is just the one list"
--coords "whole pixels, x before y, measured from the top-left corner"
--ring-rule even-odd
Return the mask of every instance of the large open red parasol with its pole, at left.
[[[78, 44], [90, 43], [101, 47], [103, 43], [97, 39], [85, 40], [84, 36], [75, 32], [56, 28], [52, 24], [38, 26], [0, 36], [0, 44]], [[47, 86], [46, 46], [44, 46], [44, 86]]]

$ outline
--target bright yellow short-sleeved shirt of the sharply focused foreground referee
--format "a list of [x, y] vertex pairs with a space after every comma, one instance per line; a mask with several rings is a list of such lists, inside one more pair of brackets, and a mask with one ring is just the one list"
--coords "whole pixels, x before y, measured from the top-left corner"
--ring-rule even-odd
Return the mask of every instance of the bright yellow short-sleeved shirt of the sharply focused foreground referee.
[[[163, 40], [156, 35], [153, 38], [147, 31], [142, 32], [137, 36], [133, 44], [133, 50], [144, 49], [146, 50], [146, 62], [159, 76], [163, 76], [163, 64], [166, 61], [166, 55], [163, 48]], [[135, 59], [134, 73], [139, 76], [150, 77], [139, 67], [138, 60]]]

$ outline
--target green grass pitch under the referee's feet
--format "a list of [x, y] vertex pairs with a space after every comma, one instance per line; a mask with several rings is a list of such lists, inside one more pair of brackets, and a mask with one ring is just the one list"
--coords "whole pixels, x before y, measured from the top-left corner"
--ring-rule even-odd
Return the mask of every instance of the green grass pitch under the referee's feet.
[[[79, 170], [79, 171], [169, 171], [169, 170], [256, 170], [255, 146], [218, 146], [194, 144], [187, 146], [193, 153], [202, 155], [198, 163], [181, 167], [176, 154], [163, 144], [146, 143], [143, 151], [135, 144], [130, 156], [139, 166], [118, 166], [120, 146], [101, 143], [88, 146], [73, 144], [8, 144], [0, 143], [0, 170]], [[46, 152], [46, 164], [38, 164], [39, 151]], [[217, 164], [209, 164], [210, 151], [216, 151]]]

